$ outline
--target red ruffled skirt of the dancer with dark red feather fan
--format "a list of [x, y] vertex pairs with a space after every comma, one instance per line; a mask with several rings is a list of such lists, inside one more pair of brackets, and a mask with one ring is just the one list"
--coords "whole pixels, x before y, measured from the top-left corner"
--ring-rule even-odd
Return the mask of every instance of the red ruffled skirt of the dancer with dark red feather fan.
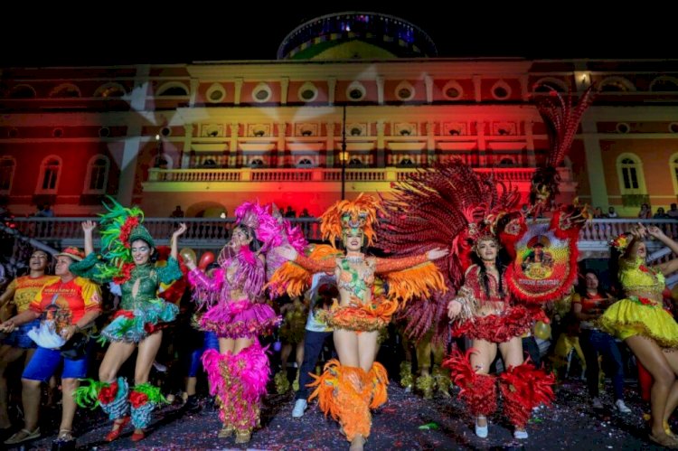
[[457, 324], [452, 334], [456, 337], [464, 335], [492, 343], [506, 343], [513, 337], [522, 336], [532, 330], [535, 321], [549, 321], [540, 307], [511, 305], [501, 315], [476, 316]]

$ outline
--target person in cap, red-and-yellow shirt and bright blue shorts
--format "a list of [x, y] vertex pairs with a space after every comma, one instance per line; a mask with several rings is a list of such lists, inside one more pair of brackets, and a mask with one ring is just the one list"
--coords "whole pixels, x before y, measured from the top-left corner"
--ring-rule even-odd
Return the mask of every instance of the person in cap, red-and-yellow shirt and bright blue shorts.
[[[84, 253], [77, 248], [66, 248], [56, 254], [54, 274], [56, 281], [46, 284], [33, 299], [29, 308], [19, 315], [0, 324], [0, 331], [10, 333], [16, 326], [41, 318], [41, 331], [33, 329], [31, 337], [38, 343], [33, 359], [22, 375], [24, 428], [5, 441], [14, 445], [40, 437], [38, 412], [40, 409], [40, 383], [48, 381], [57, 367], [63, 363], [61, 386], [63, 392], [61, 425], [56, 442], [72, 442], [71, 436], [76, 403], [73, 391], [78, 388], [79, 379], [87, 375], [88, 355], [67, 359], [61, 355], [61, 345], [93, 322], [101, 314], [101, 292], [99, 286], [84, 277], [71, 272], [71, 264], [82, 260]], [[48, 333], [45, 334], [45, 324]], [[49, 336], [49, 332], [52, 336]], [[49, 347], [47, 347], [49, 346]]]

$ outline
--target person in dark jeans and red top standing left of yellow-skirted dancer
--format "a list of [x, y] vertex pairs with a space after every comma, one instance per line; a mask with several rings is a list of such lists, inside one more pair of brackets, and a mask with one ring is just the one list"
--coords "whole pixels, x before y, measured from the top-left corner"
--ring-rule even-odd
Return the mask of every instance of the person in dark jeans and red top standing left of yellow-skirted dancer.
[[598, 317], [614, 299], [600, 288], [598, 275], [594, 271], [587, 271], [584, 280], [583, 289], [572, 298], [572, 312], [580, 322], [579, 344], [586, 359], [586, 381], [591, 406], [594, 409], [603, 409], [598, 398], [598, 354], [602, 354], [603, 359], [613, 368], [611, 376], [615, 391], [615, 409], [620, 413], [631, 413], [631, 409], [624, 403], [624, 363], [617, 341], [615, 337], [596, 327]]

